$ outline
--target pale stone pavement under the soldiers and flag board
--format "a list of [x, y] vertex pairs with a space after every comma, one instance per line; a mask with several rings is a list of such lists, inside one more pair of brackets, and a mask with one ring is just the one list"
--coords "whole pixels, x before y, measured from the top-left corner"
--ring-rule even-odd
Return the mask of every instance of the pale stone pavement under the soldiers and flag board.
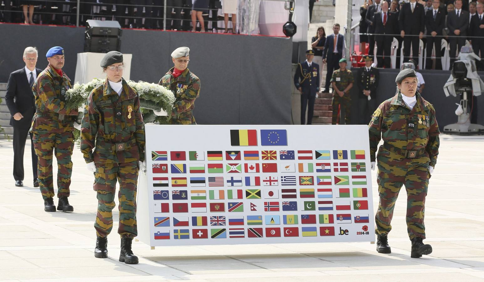
[[[30, 142], [24, 187], [12, 176], [12, 143], [0, 141], [0, 281], [484, 281], [484, 137], [441, 135], [426, 200], [426, 233], [434, 252], [410, 258], [401, 191], [390, 233], [392, 254], [370, 243], [157, 247], [134, 242], [138, 265], [94, 258], [97, 200], [93, 176], [76, 148], [70, 203], [74, 213], [46, 213], [32, 188]], [[373, 197], [378, 204], [376, 172]], [[57, 192], [57, 188], [56, 188]], [[57, 200], [55, 201], [57, 204]], [[374, 207], [376, 210], [376, 206]], [[117, 211], [117, 209], [115, 209]], [[117, 229], [117, 217], [114, 215]]]

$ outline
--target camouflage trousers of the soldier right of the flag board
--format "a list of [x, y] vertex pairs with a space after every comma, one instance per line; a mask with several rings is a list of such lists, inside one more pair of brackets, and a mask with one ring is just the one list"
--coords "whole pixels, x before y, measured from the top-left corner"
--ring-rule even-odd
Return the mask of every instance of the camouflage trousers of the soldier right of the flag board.
[[429, 158], [403, 158], [380, 147], [378, 152], [378, 194], [379, 204], [375, 216], [377, 235], [388, 234], [392, 230], [393, 208], [398, 192], [403, 185], [407, 190], [407, 233], [410, 240], [415, 237], [425, 239], [425, 196], [427, 195], [430, 174]]

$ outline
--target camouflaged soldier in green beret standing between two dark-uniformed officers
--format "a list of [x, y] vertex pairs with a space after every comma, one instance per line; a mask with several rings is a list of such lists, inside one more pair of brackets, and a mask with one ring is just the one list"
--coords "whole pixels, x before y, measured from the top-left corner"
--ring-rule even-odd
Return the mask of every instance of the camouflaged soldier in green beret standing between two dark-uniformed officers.
[[333, 107], [332, 124], [336, 124], [338, 118], [338, 107], [341, 105], [345, 109], [345, 124], [349, 125], [349, 115], [351, 114], [351, 97], [349, 90], [353, 87], [353, 74], [346, 69], [346, 59], [339, 60], [339, 69], [333, 72], [331, 83], [333, 85], [333, 100], [331, 106]]

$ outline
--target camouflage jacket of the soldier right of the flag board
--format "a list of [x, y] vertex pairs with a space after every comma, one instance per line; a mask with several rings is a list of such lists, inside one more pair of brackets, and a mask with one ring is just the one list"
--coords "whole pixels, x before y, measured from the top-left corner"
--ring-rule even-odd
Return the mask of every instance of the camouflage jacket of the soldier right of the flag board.
[[[417, 92], [417, 103], [410, 110], [398, 92], [380, 104], [368, 125], [370, 137], [370, 160], [375, 161], [378, 142], [400, 150], [421, 150], [435, 167], [439, 155], [439, 125], [435, 109]], [[387, 146], [388, 146], [387, 145]]]

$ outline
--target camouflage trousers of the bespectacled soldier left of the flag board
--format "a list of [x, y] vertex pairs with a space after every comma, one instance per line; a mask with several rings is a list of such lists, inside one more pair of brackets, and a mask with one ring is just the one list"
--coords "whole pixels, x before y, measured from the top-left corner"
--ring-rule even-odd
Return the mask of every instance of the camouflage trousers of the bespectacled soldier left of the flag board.
[[112, 210], [115, 207], [114, 195], [116, 182], [118, 191], [120, 223], [118, 233], [121, 237], [134, 238], [138, 235], [136, 226], [136, 186], [138, 181], [138, 162], [96, 163], [94, 190], [97, 192], [97, 216], [94, 228], [96, 234], [107, 236], [113, 229]]

